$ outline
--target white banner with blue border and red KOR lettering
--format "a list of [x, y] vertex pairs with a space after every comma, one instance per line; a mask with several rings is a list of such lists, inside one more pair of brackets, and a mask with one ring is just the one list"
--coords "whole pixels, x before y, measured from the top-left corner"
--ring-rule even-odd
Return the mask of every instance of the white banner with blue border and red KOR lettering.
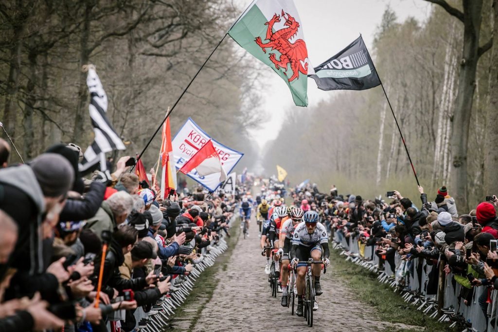
[[[224, 146], [223, 144], [210, 137], [191, 118], [187, 119], [172, 142], [176, 168], [181, 168], [183, 164], [185, 164], [210, 139], [211, 142], [213, 142], [213, 146], [218, 152], [218, 155], [220, 156], [220, 161], [223, 168], [225, 169], [225, 172], [229, 174], [241, 160], [244, 154], [230, 149], [229, 147]], [[210, 191], [216, 190], [220, 185], [219, 172], [206, 176], [200, 176], [196, 172], [196, 170], [193, 169], [187, 175], [197, 182], [201, 183]]]

